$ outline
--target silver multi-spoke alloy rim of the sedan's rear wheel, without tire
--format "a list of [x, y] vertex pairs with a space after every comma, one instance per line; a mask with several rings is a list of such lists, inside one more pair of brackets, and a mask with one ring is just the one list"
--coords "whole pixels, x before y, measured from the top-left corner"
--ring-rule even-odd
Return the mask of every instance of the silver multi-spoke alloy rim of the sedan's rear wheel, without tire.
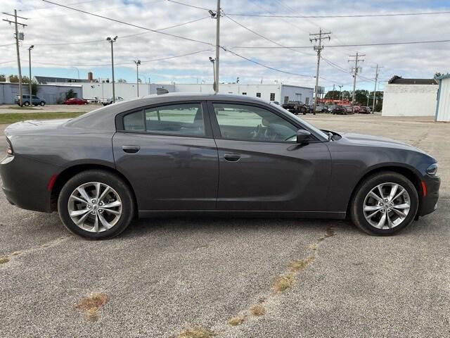
[[122, 201], [108, 184], [89, 182], [70, 194], [68, 212], [73, 223], [82, 230], [103, 232], [120, 220]]

